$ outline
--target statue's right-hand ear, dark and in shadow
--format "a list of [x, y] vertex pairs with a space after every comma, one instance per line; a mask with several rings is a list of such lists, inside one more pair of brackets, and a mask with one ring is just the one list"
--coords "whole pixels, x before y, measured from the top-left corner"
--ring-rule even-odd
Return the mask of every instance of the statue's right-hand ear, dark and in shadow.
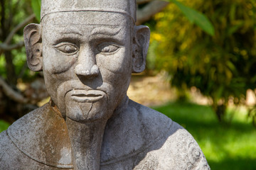
[[146, 67], [146, 53], [149, 48], [150, 30], [147, 26], [134, 27], [133, 73], [143, 72]]

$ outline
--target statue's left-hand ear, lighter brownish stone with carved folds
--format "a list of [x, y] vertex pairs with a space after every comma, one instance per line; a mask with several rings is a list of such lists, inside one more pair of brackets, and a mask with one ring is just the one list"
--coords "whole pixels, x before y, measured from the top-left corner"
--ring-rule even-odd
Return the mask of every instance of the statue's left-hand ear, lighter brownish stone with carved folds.
[[31, 23], [24, 28], [24, 42], [26, 47], [27, 63], [34, 72], [42, 71], [42, 38], [41, 25]]

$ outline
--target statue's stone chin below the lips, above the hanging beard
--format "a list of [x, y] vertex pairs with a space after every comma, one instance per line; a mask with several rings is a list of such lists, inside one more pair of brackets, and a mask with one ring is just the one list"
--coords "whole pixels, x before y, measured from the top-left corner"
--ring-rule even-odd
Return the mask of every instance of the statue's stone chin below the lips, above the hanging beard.
[[78, 102], [71, 98], [71, 93], [65, 95], [65, 115], [75, 121], [93, 121], [109, 117], [107, 97], [95, 102]]

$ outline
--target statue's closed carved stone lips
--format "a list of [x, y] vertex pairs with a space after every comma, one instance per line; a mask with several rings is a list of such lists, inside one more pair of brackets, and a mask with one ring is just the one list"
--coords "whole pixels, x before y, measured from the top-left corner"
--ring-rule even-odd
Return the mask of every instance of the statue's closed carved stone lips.
[[74, 101], [80, 103], [91, 103], [99, 101], [105, 96], [105, 92], [99, 90], [82, 90], [82, 89], [73, 89], [71, 91], [71, 98]]

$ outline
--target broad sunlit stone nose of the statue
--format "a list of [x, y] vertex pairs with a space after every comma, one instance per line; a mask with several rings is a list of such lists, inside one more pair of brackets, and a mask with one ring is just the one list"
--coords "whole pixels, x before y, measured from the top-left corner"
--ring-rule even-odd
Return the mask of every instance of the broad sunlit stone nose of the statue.
[[96, 64], [95, 55], [90, 50], [85, 50], [78, 56], [78, 64], [75, 67], [75, 74], [80, 77], [92, 79], [100, 73]]

